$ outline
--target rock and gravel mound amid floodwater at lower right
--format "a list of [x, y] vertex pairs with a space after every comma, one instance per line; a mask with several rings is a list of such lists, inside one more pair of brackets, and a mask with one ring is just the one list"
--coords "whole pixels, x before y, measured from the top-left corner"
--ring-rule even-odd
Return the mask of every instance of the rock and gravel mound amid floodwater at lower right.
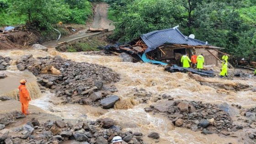
[[202, 103], [202, 101], [172, 101], [173, 98], [170, 96], [168, 99], [169, 102], [163, 104], [165, 108], [151, 105], [145, 108], [145, 111], [163, 112], [174, 125], [190, 128], [192, 131], [201, 130], [204, 134], [230, 132], [243, 128], [235, 126], [229, 113], [224, 112], [223, 105]]

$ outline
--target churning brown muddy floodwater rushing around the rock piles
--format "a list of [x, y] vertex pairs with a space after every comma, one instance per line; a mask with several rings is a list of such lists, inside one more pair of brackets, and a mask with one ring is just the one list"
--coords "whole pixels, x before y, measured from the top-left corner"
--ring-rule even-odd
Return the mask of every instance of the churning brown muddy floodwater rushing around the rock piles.
[[[79, 104], [60, 105], [58, 104], [59, 99], [54, 96], [54, 93], [46, 91], [41, 96], [34, 97], [30, 103], [31, 105], [40, 107], [45, 112], [65, 119], [96, 120], [99, 117], [110, 117], [117, 121], [125, 130], [142, 132], [145, 135], [153, 131], [160, 133], [160, 140], [157, 144], [239, 144], [241, 139], [219, 136], [218, 134], [203, 135], [200, 131], [192, 132], [190, 129], [174, 127], [166, 117], [160, 114], [153, 115], [145, 112], [144, 107], [149, 107], [153, 102], [149, 101], [147, 104], [136, 102], [133, 96], [134, 88], [143, 88], [151, 92], [151, 99], [162, 94], [170, 94], [172, 97], [181, 100], [203, 101], [214, 104], [227, 102], [230, 105], [235, 103], [242, 107], [256, 106], [256, 92], [217, 91], [213, 87], [201, 85], [197, 81], [190, 79], [185, 73], [169, 73], [164, 71], [164, 67], [153, 64], [124, 63], [121, 62], [118, 56], [48, 53], [34, 50], [0, 51], [0, 55], [10, 56], [12, 59], [18, 59], [23, 54], [32, 54], [34, 57], [61, 55], [76, 62], [87, 62], [109, 67], [120, 74], [120, 81], [115, 83], [118, 91], [114, 94], [120, 96], [121, 99], [133, 101], [133, 104], [135, 103], [128, 110], [125, 110], [123, 107], [129, 107], [126, 105], [130, 103], [125, 103], [110, 110]], [[5, 72], [8, 77], [0, 80], [0, 94], [15, 89], [20, 79], [27, 79], [31, 83], [36, 80], [36, 77], [28, 71], [20, 72], [10, 67]], [[206, 79], [221, 80], [218, 77]], [[227, 81], [225, 79], [222, 80]], [[256, 78], [232, 81], [256, 86]], [[33, 91], [37, 91], [37, 89]], [[146, 136], [143, 139], [147, 144], [156, 143]]]

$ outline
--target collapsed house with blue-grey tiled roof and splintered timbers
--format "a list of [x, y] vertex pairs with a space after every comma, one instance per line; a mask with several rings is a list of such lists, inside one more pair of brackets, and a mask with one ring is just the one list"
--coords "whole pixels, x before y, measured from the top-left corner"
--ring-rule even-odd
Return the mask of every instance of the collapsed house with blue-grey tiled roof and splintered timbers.
[[189, 57], [193, 53], [197, 55], [203, 53], [205, 65], [218, 64], [219, 47], [214, 47], [193, 37], [184, 36], [178, 29], [178, 26], [149, 32], [141, 35], [141, 37], [120, 45], [108, 45], [106, 50], [117, 53], [128, 53], [134, 58], [139, 58], [143, 62], [153, 64], [180, 64], [181, 56], [188, 54]]

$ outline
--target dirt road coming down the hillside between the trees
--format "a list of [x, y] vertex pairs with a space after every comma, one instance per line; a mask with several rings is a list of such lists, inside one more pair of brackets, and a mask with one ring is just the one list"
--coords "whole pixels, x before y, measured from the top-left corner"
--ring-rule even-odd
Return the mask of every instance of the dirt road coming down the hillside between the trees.
[[[104, 28], [104, 29], [108, 29], [109, 31], [111, 31], [115, 28], [113, 25], [110, 25], [112, 21], [107, 19], [107, 9], [108, 9], [107, 4], [100, 3], [100, 4], [96, 5], [96, 8], [95, 8], [96, 13], [94, 15], [94, 19], [93, 19], [93, 22], [90, 27]], [[97, 35], [97, 34], [101, 33], [101, 32], [86, 33], [87, 29], [77, 32], [76, 34], [71, 35], [69, 37], [61, 38], [58, 42], [56, 42], [56, 40], [54, 40], [54, 41], [50, 41], [50, 42], [45, 42], [42, 45], [47, 48], [55, 48], [58, 46], [58, 43], [61, 43], [61, 42], [69, 43], [69, 42], [75, 41], [77, 39], [81, 39], [84, 37], [90, 37], [90, 36]]]

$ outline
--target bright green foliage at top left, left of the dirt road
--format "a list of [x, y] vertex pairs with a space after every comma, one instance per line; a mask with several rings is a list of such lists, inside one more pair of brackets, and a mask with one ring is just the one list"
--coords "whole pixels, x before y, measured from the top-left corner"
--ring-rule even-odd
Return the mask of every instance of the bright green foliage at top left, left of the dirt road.
[[51, 24], [83, 24], [92, 14], [87, 0], [0, 0], [0, 26], [29, 24], [49, 29]]

